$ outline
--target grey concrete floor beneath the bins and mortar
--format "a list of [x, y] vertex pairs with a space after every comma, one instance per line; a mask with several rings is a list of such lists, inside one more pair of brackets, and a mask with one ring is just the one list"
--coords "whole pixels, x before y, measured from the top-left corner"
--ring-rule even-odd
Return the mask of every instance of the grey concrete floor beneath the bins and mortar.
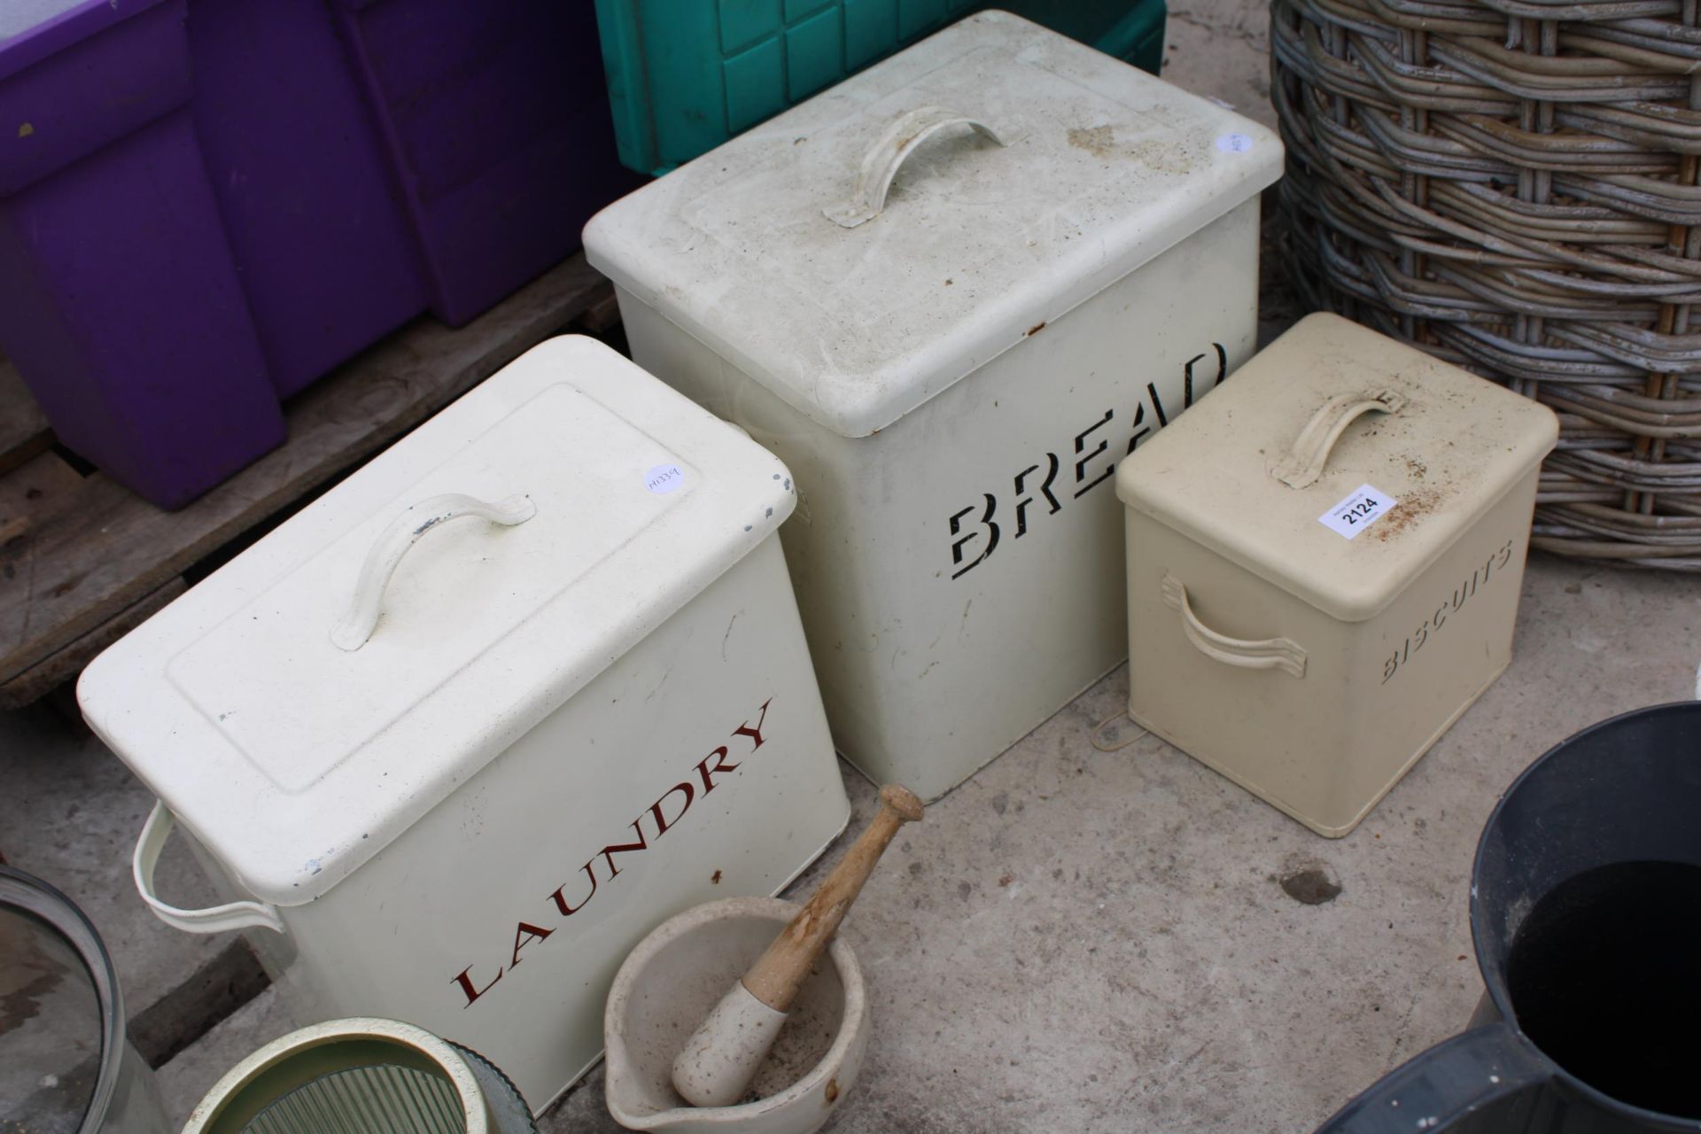
[[[1165, 75], [1272, 124], [1255, 0], [1170, 7]], [[1269, 304], [1267, 304], [1269, 306]], [[1470, 961], [1471, 853], [1536, 755], [1614, 712], [1692, 697], [1701, 578], [1538, 556], [1512, 668], [1351, 836], [1322, 840], [1186, 755], [1089, 731], [1118, 670], [907, 828], [842, 935], [874, 1032], [835, 1134], [1303, 1132], [1454, 1032]], [[854, 825], [873, 789], [847, 770]], [[66, 889], [112, 949], [134, 1013], [211, 957], [129, 882], [146, 791], [49, 709], [0, 714], [0, 850]], [[832, 848], [799, 881], [839, 859]], [[1340, 886], [1303, 904], [1284, 879]], [[179, 848], [167, 898], [209, 887]], [[293, 1027], [287, 981], [160, 1071], [175, 1119]], [[541, 1122], [614, 1131], [600, 1071]]]

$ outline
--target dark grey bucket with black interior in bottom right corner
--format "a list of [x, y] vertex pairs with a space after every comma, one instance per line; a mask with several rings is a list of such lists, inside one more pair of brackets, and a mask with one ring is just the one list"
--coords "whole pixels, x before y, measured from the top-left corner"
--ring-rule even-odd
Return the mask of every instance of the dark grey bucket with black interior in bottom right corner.
[[1701, 1132], [1701, 702], [1602, 721], [1517, 777], [1471, 935], [1475, 1027], [1318, 1134]]

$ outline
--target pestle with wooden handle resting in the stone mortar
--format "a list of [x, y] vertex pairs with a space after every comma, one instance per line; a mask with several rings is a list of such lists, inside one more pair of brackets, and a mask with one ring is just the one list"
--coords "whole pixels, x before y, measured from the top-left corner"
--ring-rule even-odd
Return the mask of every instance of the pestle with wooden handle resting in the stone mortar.
[[694, 1107], [730, 1107], [743, 1097], [774, 1046], [791, 1001], [810, 976], [845, 910], [905, 823], [922, 818], [907, 787], [879, 789], [879, 813], [827, 876], [808, 904], [709, 1012], [674, 1061], [674, 1090]]

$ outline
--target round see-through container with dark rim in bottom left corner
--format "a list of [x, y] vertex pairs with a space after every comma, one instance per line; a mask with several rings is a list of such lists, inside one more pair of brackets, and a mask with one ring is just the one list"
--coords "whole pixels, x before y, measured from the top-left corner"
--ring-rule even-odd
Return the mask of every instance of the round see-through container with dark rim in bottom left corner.
[[100, 935], [0, 865], [0, 1134], [168, 1134]]

